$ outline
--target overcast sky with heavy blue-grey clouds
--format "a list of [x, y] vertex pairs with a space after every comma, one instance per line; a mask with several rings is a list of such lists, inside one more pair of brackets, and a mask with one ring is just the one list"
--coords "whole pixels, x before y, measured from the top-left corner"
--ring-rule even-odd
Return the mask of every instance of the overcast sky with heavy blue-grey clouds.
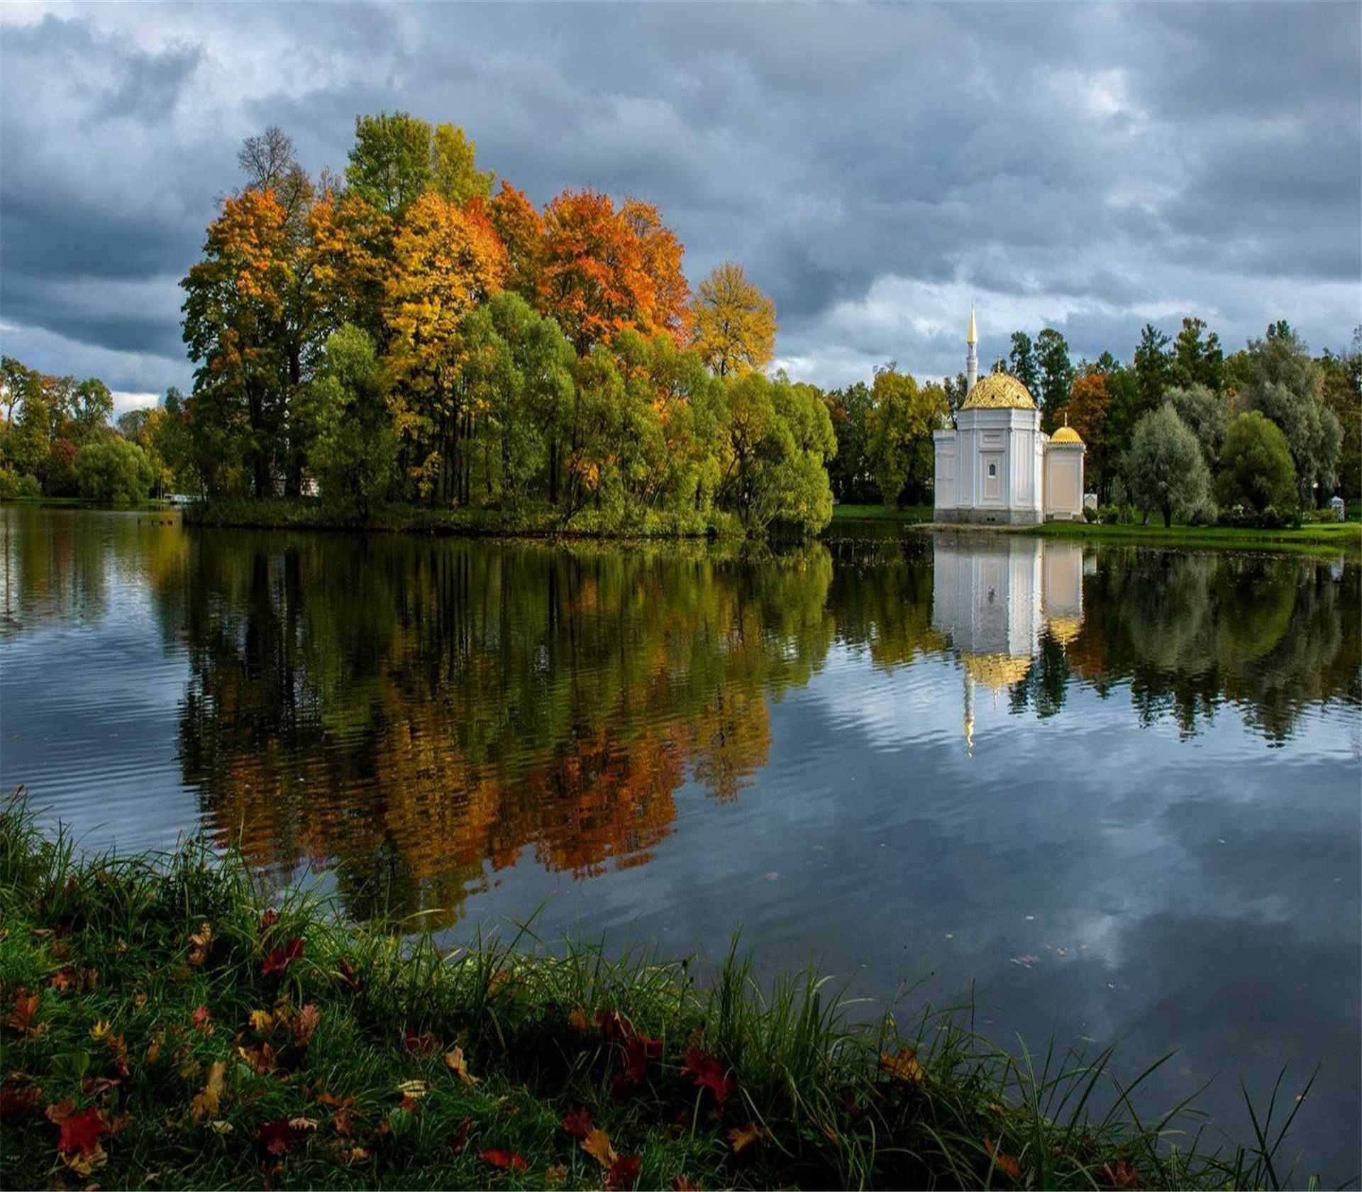
[[0, 347], [120, 409], [192, 369], [178, 281], [241, 139], [345, 168], [357, 113], [462, 124], [543, 203], [656, 202], [742, 262], [778, 364], [986, 368], [1058, 327], [1129, 358], [1194, 313], [1362, 321], [1362, 5], [0, 7]]

